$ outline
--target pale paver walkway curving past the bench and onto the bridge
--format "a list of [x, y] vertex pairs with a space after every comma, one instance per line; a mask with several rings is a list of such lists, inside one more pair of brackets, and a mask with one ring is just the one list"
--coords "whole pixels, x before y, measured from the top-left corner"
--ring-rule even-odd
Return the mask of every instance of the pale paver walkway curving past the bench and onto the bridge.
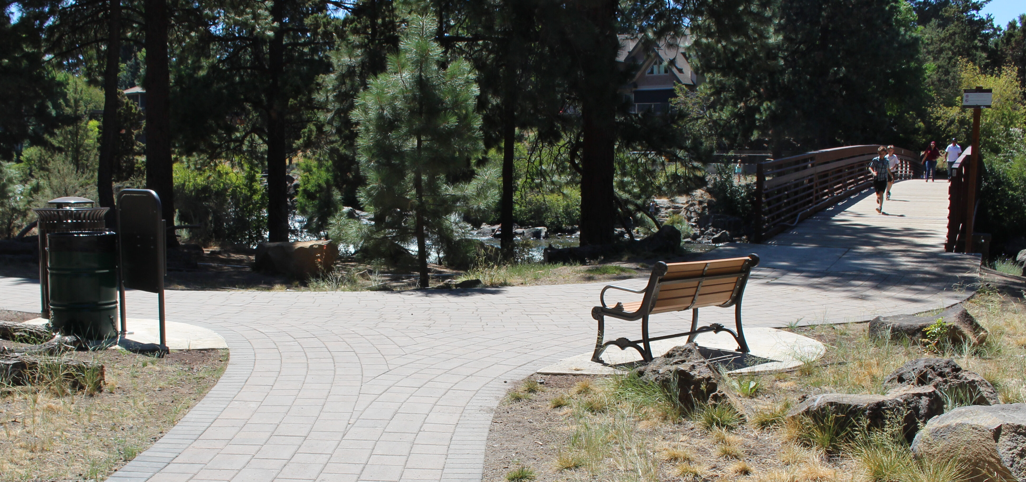
[[[946, 204], [946, 187], [896, 186], [895, 197], [909, 199], [886, 206], [900, 223], [867, 214], [857, 197], [779, 244], [717, 250], [762, 256], [746, 291], [747, 324], [863, 321], [963, 299], [959, 283], [973, 281], [978, 260], [943, 253], [935, 244], [942, 219], [916, 207]], [[851, 242], [814, 245], [830, 239], [823, 227], [831, 225]], [[826, 231], [807, 235], [806, 227]], [[37, 311], [38, 289], [0, 278], [0, 308]], [[588, 350], [599, 289], [169, 291], [168, 319], [215, 330], [231, 362], [206, 398], [109, 480], [480, 480], [508, 383]], [[154, 318], [155, 304], [153, 294], [128, 293], [130, 316]], [[729, 322], [732, 314], [702, 316]], [[676, 321], [662, 318], [656, 330]]]

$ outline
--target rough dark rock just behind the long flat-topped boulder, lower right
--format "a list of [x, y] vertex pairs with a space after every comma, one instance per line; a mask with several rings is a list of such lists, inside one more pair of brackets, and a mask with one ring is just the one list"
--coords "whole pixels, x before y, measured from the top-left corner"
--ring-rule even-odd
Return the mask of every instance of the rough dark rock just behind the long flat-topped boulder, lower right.
[[900, 366], [883, 380], [886, 387], [931, 386], [953, 396], [956, 393], [976, 394], [973, 405], [1001, 403], [994, 386], [979, 374], [963, 370], [950, 358], [920, 358]]

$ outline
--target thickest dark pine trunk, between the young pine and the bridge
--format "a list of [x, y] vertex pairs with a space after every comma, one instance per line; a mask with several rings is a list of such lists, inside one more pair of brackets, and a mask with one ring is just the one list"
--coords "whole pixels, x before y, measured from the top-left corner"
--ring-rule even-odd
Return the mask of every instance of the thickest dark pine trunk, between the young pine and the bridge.
[[614, 241], [615, 194], [613, 190], [616, 139], [616, 99], [619, 77], [616, 54], [620, 41], [614, 30], [616, 2], [586, 2], [595, 45], [585, 55], [578, 84], [582, 98], [584, 147], [581, 155], [581, 245]]

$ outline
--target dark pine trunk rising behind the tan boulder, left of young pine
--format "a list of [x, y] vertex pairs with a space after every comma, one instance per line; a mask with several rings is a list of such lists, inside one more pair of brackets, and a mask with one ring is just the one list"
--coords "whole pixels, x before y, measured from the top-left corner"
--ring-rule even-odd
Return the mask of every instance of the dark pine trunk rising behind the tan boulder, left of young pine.
[[287, 146], [285, 139], [284, 99], [281, 98], [281, 78], [285, 69], [284, 5], [277, 0], [271, 15], [278, 26], [268, 47], [268, 75], [270, 83], [267, 101], [267, 229], [271, 242], [288, 241], [288, 189], [285, 186]]

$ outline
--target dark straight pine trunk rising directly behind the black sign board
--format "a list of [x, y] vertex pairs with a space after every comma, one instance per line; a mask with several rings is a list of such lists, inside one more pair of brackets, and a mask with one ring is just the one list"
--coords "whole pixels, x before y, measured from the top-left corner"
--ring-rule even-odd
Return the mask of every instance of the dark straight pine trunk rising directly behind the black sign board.
[[[174, 225], [174, 179], [168, 119], [167, 24], [166, 0], [146, 0], [146, 186], [160, 196], [164, 220], [171, 227]], [[168, 231], [167, 245], [177, 244], [174, 232]]]

